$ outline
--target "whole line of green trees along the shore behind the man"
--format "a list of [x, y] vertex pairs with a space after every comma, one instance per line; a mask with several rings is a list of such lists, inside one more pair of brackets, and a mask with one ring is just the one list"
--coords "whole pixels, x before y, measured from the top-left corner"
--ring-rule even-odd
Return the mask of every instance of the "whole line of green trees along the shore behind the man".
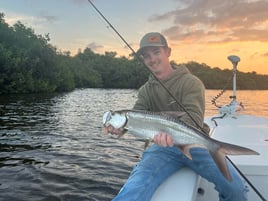
[[[76, 88], [139, 88], [149, 72], [130, 55], [96, 54], [91, 49], [71, 56], [49, 43], [49, 34], [36, 35], [21, 22], [9, 26], [0, 13], [0, 94], [63, 92]], [[173, 62], [175, 63], [175, 62]], [[233, 72], [206, 64], [185, 64], [207, 89], [231, 89]], [[237, 74], [238, 89], [268, 89], [268, 75]]]

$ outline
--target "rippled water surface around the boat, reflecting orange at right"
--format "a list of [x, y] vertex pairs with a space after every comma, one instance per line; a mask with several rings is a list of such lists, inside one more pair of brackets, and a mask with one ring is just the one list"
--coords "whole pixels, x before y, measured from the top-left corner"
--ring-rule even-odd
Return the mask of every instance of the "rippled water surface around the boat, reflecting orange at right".
[[[217, 112], [207, 90], [206, 115]], [[108, 201], [140, 160], [144, 143], [102, 132], [104, 111], [131, 108], [136, 90], [0, 96], [1, 201]], [[217, 102], [229, 103], [226, 92]], [[245, 113], [268, 117], [268, 91], [238, 91]], [[226, 98], [227, 97], [227, 98]]]

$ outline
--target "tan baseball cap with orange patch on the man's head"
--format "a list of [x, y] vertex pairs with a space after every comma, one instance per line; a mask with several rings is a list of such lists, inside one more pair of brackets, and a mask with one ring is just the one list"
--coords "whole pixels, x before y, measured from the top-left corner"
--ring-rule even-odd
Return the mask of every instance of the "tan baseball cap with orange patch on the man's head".
[[140, 49], [137, 54], [141, 55], [145, 47], [167, 47], [167, 40], [158, 32], [150, 32], [145, 34], [140, 41]]

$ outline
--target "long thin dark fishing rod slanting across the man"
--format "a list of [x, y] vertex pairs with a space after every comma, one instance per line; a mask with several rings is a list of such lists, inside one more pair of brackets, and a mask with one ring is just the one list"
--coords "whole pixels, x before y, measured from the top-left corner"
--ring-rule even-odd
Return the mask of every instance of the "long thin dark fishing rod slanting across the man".
[[[100, 10], [92, 3], [91, 0], [88, 0], [91, 6], [97, 11], [97, 13], [105, 20], [105, 22], [113, 29], [113, 31], [119, 36], [119, 38], [125, 43], [125, 45], [132, 51], [133, 55], [148, 69], [151, 75], [160, 83], [160, 85], [166, 90], [168, 95], [176, 102], [176, 104], [190, 117], [190, 119], [196, 124], [196, 126], [205, 133], [204, 129], [197, 123], [197, 121], [192, 117], [192, 115], [185, 109], [185, 107], [177, 100], [177, 98], [168, 90], [168, 88], [162, 83], [162, 81], [156, 77], [156, 75], [147, 67], [144, 63], [144, 60], [136, 53], [136, 51], [129, 45], [129, 43], [124, 39], [124, 37], [116, 30], [116, 28], [109, 22], [109, 20], [100, 12]], [[254, 187], [254, 185], [246, 178], [246, 176], [239, 170], [239, 168], [227, 157], [228, 161], [233, 165], [241, 177], [250, 185], [250, 187], [255, 191], [255, 193], [262, 199], [262, 201], [267, 201], [261, 193]]]

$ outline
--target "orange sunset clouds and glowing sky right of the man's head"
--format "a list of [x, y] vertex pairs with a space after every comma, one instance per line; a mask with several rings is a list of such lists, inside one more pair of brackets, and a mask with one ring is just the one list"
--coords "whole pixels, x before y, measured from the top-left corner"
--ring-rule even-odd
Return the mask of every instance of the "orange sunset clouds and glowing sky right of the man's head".
[[[180, 1], [181, 2], [181, 1]], [[242, 58], [241, 71], [268, 74], [268, 1], [199, 0], [149, 20], [172, 22], [162, 33], [173, 49], [173, 57], [227, 68], [226, 57]]]

